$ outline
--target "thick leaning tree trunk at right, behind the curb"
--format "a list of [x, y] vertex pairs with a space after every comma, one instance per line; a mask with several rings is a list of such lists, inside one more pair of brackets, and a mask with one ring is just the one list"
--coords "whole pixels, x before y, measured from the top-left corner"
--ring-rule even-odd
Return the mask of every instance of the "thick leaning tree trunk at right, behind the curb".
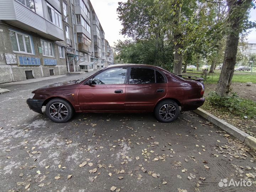
[[238, 42], [239, 42], [239, 25], [240, 25], [240, 16], [231, 15], [234, 9], [240, 6], [240, 4], [236, 4], [236, 0], [228, 0], [229, 6], [229, 23], [231, 24], [231, 31], [226, 40], [226, 48], [224, 54], [224, 61], [222, 65], [222, 70], [220, 72], [219, 81], [217, 84], [216, 93], [219, 96], [226, 97], [230, 91], [231, 80], [234, 74], [234, 68], [236, 64], [236, 53], [238, 50]]

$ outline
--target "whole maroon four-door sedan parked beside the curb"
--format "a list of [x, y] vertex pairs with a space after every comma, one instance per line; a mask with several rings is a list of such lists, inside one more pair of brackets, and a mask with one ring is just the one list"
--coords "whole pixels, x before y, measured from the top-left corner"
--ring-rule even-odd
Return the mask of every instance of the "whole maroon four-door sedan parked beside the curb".
[[202, 79], [178, 76], [151, 65], [111, 65], [89, 77], [55, 83], [32, 91], [31, 110], [54, 122], [68, 121], [81, 112], [154, 112], [161, 122], [172, 122], [181, 111], [204, 103]]

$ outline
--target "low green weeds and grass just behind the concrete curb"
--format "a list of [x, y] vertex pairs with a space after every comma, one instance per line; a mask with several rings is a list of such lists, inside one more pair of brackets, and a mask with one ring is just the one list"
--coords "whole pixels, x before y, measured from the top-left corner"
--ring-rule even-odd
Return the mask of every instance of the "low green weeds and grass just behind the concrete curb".
[[220, 110], [228, 110], [237, 116], [247, 116], [248, 118], [256, 117], [256, 102], [240, 98], [236, 93], [232, 93], [228, 97], [220, 97], [213, 91], [209, 93], [206, 100], [209, 105], [215, 106]]

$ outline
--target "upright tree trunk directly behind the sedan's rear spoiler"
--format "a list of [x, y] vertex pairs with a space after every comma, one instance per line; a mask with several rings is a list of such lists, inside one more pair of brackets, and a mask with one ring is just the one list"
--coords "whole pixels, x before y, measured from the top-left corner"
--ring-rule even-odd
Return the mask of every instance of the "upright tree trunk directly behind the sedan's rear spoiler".
[[176, 75], [181, 75], [182, 73], [182, 44], [178, 41], [181, 34], [174, 35], [174, 69], [173, 73]]

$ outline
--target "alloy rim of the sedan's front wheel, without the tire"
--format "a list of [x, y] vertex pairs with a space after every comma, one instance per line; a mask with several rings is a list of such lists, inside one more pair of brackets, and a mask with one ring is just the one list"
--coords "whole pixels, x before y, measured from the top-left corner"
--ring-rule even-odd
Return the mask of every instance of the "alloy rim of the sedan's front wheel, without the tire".
[[49, 108], [49, 114], [54, 119], [62, 120], [68, 116], [68, 108], [63, 103], [53, 103]]

